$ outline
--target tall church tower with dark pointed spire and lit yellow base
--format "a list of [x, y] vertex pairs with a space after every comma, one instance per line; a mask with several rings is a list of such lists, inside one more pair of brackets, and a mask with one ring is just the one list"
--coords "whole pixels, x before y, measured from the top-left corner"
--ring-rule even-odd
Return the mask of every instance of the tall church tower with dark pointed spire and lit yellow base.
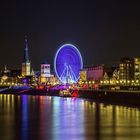
[[31, 75], [31, 62], [29, 60], [27, 36], [25, 36], [25, 40], [24, 40], [24, 57], [23, 57], [23, 61], [22, 61], [21, 74], [22, 74], [22, 76], [30, 76]]

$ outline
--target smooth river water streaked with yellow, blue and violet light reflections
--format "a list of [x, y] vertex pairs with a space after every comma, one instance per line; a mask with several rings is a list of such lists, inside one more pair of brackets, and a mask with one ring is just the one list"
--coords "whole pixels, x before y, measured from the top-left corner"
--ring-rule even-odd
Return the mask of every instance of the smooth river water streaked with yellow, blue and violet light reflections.
[[0, 140], [140, 140], [140, 110], [0, 94]]

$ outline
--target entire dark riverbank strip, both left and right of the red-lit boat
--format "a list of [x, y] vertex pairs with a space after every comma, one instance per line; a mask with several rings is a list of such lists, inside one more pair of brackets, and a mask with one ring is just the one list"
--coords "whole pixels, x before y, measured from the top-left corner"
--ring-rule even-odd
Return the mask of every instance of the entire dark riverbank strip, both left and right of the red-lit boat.
[[[34, 89], [34, 88], [29, 89], [9, 88], [3, 90], [0, 93], [14, 95], [59, 96], [59, 90]], [[102, 102], [107, 104], [140, 107], [140, 91], [79, 89], [77, 97], [90, 99], [96, 102]]]

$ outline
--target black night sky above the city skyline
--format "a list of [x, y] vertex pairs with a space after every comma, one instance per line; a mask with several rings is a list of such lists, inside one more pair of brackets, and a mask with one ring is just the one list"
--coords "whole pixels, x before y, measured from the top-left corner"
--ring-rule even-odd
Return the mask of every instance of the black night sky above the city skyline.
[[57, 49], [65, 43], [77, 46], [84, 65], [140, 56], [140, 3], [134, 0], [4, 2], [0, 3], [0, 68], [21, 67], [25, 35], [34, 69], [43, 61], [53, 64]]

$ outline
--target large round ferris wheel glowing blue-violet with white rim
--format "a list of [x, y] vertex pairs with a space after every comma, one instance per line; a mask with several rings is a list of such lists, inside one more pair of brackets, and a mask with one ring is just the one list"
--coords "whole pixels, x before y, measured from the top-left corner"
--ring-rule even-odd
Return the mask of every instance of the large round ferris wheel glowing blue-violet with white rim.
[[81, 54], [74, 45], [65, 44], [58, 49], [54, 59], [54, 69], [62, 84], [76, 83], [82, 68]]

